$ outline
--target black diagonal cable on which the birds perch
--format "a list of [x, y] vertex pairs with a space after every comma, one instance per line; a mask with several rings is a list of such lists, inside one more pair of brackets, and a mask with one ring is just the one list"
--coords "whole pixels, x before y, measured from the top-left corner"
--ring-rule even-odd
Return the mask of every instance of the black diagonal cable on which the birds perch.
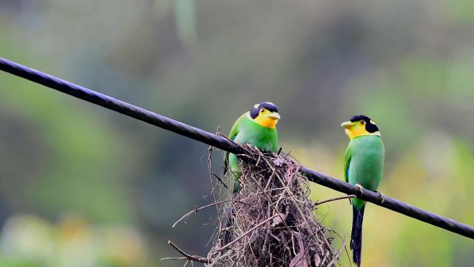
[[[85, 87], [61, 80], [60, 78], [55, 78], [51, 75], [44, 74], [41, 71], [37, 71], [35, 69], [30, 69], [10, 60], [0, 58], [0, 70], [6, 71], [21, 78], [25, 78], [34, 83], [40, 83], [41, 85], [58, 90], [64, 94], [69, 94], [90, 103], [100, 105], [109, 110], [114, 110], [121, 114], [125, 114], [134, 119], [145, 121], [146, 123], [158, 126], [159, 128], [164, 128], [165, 130], [170, 130], [171, 132], [175, 132], [179, 135], [184, 135], [185, 137], [195, 139], [196, 141], [208, 144], [209, 146], [215, 146], [216, 148], [236, 154], [245, 153], [244, 150], [228, 139], [214, 135], [211, 132], [206, 132], [193, 126], [188, 126], [185, 123], [169, 119], [154, 112], [145, 110], [141, 107], [119, 101], [110, 96], [106, 96]], [[443, 216], [433, 214], [432, 212], [427, 212], [423, 209], [419, 209], [393, 198], [386, 197], [385, 201], [382, 202], [380, 195], [374, 191], [363, 189], [361, 194], [360, 189], [353, 186], [352, 184], [332, 178], [323, 173], [318, 173], [317, 171], [313, 171], [305, 167], [301, 168], [299, 171], [311, 182], [321, 184], [322, 186], [329, 187], [335, 191], [356, 195], [358, 198], [367, 200], [368, 202], [379, 205], [380, 207], [391, 209], [394, 212], [410, 216], [416, 220], [441, 227], [444, 230], [455, 232], [470, 239], [474, 239], [474, 227], [471, 225], [453, 221], [450, 218], [445, 218]]]

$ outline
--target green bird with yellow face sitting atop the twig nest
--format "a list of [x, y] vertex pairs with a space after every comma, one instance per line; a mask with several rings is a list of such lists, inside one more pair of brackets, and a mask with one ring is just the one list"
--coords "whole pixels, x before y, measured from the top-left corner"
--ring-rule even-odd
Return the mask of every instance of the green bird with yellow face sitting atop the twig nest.
[[[280, 119], [274, 103], [263, 102], [240, 116], [232, 126], [229, 139], [239, 144], [251, 144], [260, 150], [277, 152], [277, 123]], [[240, 189], [242, 170], [235, 154], [229, 153], [229, 168], [234, 180], [234, 192]]]

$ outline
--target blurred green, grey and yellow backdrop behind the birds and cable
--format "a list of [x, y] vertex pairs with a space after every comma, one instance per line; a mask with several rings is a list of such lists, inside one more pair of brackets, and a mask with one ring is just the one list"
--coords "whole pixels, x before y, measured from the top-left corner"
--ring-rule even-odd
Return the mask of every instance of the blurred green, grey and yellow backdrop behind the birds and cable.
[[[0, 1], [1, 57], [211, 132], [272, 101], [283, 150], [336, 178], [340, 123], [367, 114], [387, 150], [381, 191], [471, 225], [473, 42], [470, 0]], [[206, 159], [204, 144], [0, 73], [0, 266], [182, 266], [159, 261], [179, 256], [168, 239], [206, 255], [213, 210], [171, 228], [211, 202]], [[346, 200], [316, 216], [351, 229]], [[364, 229], [364, 266], [474, 261], [472, 240], [375, 205]]]

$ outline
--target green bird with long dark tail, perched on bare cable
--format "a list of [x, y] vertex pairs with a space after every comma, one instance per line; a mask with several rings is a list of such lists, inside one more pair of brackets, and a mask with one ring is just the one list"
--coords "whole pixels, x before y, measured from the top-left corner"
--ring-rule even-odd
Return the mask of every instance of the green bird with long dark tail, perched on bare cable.
[[[357, 115], [341, 124], [351, 140], [344, 158], [344, 180], [350, 184], [376, 191], [383, 176], [385, 148], [376, 123], [369, 117]], [[382, 200], [385, 196], [380, 193]], [[353, 198], [351, 250], [353, 261], [360, 266], [362, 254], [362, 220], [364, 218], [365, 201]]]

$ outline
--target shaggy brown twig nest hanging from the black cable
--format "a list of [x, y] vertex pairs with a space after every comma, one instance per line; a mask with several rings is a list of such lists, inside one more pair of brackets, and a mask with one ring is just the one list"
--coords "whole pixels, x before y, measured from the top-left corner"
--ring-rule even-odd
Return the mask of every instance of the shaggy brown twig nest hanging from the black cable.
[[[262, 153], [252, 146], [242, 147], [247, 154], [239, 157], [242, 176], [238, 193], [222, 193], [230, 192], [234, 186], [224, 184], [213, 173], [209, 150], [209, 171], [220, 184], [213, 184], [215, 202], [194, 209], [179, 221], [200, 209], [216, 206], [217, 233], [207, 257], [180, 251], [184, 259], [209, 267], [340, 265], [344, 240], [340, 250], [331, 246], [333, 238], [326, 236], [330, 230], [313, 214], [319, 203], [308, 198], [308, 179], [298, 172], [301, 165], [284, 153]], [[231, 180], [229, 176], [227, 180]]]

